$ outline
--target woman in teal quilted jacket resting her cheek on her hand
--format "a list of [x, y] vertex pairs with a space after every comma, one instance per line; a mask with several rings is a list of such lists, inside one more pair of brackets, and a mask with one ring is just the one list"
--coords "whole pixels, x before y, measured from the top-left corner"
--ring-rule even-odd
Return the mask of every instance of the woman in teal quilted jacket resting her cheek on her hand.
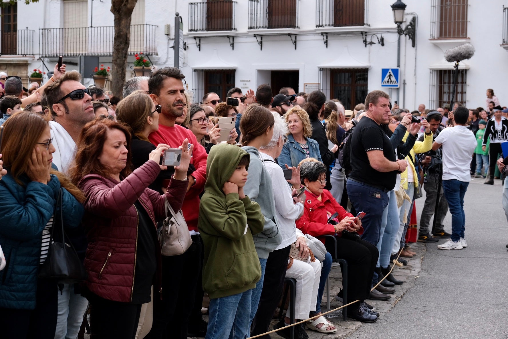
[[0, 243], [7, 261], [0, 271], [2, 338], [53, 339], [60, 291], [56, 281], [38, 274], [48, 256], [51, 228], [60, 225], [53, 224], [53, 215], [60, 215], [60, 192], [67, 231], [81, 223], [85, 197], [52, 169], [55, 148], [43, 117], [15, 114], [3, 126], [0, 153], [8, 173], [0, 180]]

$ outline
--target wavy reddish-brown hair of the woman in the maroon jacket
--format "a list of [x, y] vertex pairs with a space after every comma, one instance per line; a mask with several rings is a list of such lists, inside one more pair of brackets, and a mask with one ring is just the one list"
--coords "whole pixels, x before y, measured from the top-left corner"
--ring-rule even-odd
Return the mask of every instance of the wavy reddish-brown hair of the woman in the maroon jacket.
[[120, 176], [126, 177], [131, 174], [131, 133], [129, 128], [118, 121], [94, 119], [85, 125], [76, 143], [76, 157], [69, 169], [69, 176], [74, 184], [78, 185], [79, 181], [87, 174], [98, 174], [103, 177], [109, 177], [112, 174], [110, 169], [102, 165], [98, 159], [108, 139], [108, 131], [112, 129], [120, 130], [125, 134], [126, 148], [129, 151], [125, 168], [120, 172]]

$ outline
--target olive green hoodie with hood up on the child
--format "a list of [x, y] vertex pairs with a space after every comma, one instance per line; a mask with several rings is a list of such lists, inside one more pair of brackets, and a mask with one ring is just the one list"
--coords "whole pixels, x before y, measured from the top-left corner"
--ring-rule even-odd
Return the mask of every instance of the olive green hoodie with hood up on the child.
[[261, 208], [247, 196], [240, 200], [238, 193], [224, 195], [222, 190], [243, 157], [249, 155], [240, 147], [219, 144], [211, 148], [206, 162], [198, 229], [205, 245], [203, 290], [211, 299], [255, 288], [261, 278], [252, 239], [263, 231]]

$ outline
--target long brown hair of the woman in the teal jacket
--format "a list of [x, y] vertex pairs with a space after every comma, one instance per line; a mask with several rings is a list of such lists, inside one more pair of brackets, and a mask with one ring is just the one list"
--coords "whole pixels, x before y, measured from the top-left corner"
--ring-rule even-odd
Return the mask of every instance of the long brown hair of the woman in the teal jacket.
[[[19, 177], [26, 174], [31, 154], [37, 140], [48, 128], [48, 122], [37, 113], [20, 112], [7, 119], [3, 126], [4, 135], [0, 153], [2, 153], [4, 167], [14, 180], [23, 186], [23, 182]], [[60, 181], [60, 186], [69, 191], [80, 203], [85, 201], [83, 192], [74, 186], [65, 174], [53, 169], [50, 173], [56, 175]]]

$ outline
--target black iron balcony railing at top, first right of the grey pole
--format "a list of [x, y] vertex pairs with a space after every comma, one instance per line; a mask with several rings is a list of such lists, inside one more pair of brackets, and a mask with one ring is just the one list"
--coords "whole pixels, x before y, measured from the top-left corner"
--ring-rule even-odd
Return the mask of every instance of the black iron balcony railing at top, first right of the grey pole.
[[236, 30], [236, 1], [189, 3], [189, 32]]

